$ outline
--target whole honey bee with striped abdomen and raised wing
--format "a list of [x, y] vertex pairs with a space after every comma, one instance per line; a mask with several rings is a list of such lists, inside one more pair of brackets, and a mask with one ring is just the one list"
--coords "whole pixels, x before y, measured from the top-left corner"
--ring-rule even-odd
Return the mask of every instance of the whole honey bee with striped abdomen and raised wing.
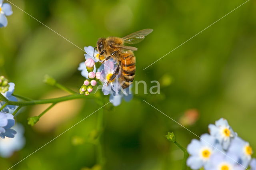
[[134, 32], [123, 38], [118, 37], [108, 37], [108, 38], [99, 38], [97, 42], [97, 50], [100, 53], [100, 56], [103, 56], [104, 61], [113, 58], [115, 61], [118, 61], [118, 66], [114, 71], [113, 75], [107, 82], [110, 83], [121, 71], [119, 82], [123, 89], [129, 87], [132, 84], [132, 81], [135, 77], [136, 70], [136, 58], [133, 51], [137, 51], [136, 47], [125, 46], [125, 43], [134, 44], [139, 43], [144, 40], [145, 36], [150, 34], [152, 29], [144, 29], [137, 32]]

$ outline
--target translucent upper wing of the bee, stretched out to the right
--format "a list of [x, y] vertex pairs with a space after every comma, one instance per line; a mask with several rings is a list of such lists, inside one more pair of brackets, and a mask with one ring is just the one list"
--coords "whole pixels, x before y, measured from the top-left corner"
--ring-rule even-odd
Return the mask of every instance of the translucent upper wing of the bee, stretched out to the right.
[[125, 36], [122, 39], [124, 40], [124, 43], [128, 43], [128, 44], [139, 43], [142, 40], [144, 40], [145, 36], [150, 34], [152, 31], [153, 31], [152, 29], [140, 30], [140, 31], [134, 32], [128, 36]]

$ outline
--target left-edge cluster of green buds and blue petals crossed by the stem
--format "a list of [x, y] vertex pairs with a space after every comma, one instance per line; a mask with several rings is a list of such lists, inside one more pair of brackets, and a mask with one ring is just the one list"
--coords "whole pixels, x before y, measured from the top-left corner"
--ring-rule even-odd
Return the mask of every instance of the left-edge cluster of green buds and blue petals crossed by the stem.
[[[16, 97], [12, 95], [14, 92], [14, 83], [9, 83], [8, 79], [6, 79], [4, 76], [0, 76], [0, 93], [6, 97], [6, 99], [10, 101], [18, 101]], [[5, 104], [4, 101], [0, 101], [0, 108]], [[12, 105], [7, 105], [2, 109], [1, 112], [3, 113], [10, 113], [14, 111], [16, 107]]]

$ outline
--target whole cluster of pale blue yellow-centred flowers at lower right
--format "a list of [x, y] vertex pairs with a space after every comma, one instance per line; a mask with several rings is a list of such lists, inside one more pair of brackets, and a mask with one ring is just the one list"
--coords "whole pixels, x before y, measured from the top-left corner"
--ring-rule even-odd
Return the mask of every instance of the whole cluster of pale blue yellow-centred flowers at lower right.
[[244, 170], [249, 164], [252, 170], [256, 169], [251, 146], [238, 137], [226, 119], [221, 118], [208, 128], [210, 134], [202, 134], [200, 140], [193, 139], [188, 144], [187, 165], [191, 169]]

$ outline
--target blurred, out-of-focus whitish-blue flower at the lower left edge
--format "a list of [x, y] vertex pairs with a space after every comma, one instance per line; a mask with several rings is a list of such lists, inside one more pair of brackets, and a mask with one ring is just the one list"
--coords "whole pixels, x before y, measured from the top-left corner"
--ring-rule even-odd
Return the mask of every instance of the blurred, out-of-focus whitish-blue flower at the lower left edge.
[[16, 124], [13, 127], [17, 131], [14, 138], [0, 138], [0, 156], [8, 158], [15, 151], [22, 149], [25, 145], [24, 128], [21, 124]]

